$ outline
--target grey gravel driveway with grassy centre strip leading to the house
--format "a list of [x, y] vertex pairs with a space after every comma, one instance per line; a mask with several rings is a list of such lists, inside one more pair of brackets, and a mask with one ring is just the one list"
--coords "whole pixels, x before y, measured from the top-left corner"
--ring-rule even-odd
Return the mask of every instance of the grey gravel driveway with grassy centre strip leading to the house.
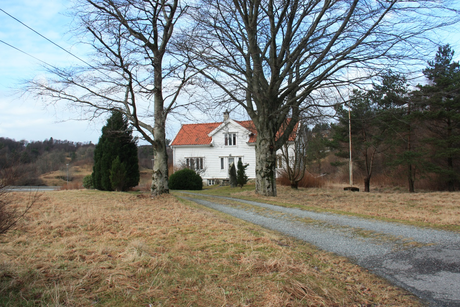
[[460, 307], [458, 233], [185, 193], [180, 197], [348, 257], [430, 306]]

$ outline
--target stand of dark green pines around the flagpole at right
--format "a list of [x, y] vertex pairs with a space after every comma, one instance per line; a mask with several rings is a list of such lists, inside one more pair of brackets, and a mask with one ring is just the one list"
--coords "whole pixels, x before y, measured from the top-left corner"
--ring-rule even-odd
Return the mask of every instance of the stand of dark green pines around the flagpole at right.
[[[460, 188], [460, 65], [453, 56], [449, 45], [439, 47], [423, 70], [426, 84], [413, 90], [403, 75], [389, 73], [372, 89], [353, 91], [347, 103], [352, 156], [365, 191], [380, 164], [403, 170], [410, 192], [420, 179], [435, 181], [438, 190]], [[337, 114], [330, 147], [347, 158], [347, 105], [337, 106]]]

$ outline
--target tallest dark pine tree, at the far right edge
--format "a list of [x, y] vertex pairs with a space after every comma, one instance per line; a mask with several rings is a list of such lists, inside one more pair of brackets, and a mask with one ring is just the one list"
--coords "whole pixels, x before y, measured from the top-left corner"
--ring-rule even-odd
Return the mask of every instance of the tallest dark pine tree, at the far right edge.
[[429, 83], [418, 86], [421, 115], [431, 134], [425, 142], [431, 145], [435, 171], [445, 179], [449, 191], [458, 185], [455, 166], [460, 160], [460, 64], [453, 57], [449, 45], [439, 47], [423, 71]]

